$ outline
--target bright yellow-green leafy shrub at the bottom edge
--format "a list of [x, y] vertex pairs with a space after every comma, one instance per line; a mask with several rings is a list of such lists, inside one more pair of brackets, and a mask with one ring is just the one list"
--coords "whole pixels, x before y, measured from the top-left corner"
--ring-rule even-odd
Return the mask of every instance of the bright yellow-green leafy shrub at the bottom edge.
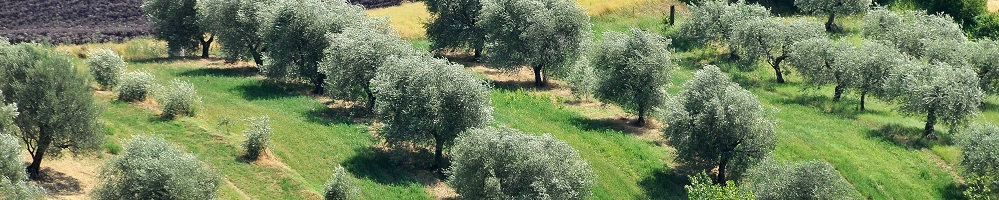
[[701, 172], [690, 176], [690, 185], [683, 186], [687, 198], [691, 200], [755, 200], [752, 191], [739, 190], [735, 181], [726, 181], [724, 185], [715, 184], [707, 173]]

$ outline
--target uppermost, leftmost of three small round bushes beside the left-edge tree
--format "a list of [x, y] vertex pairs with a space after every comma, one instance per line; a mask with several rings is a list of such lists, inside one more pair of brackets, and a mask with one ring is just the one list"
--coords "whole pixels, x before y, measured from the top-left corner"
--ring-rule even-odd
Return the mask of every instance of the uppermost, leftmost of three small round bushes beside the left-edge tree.
[[118, 86], [121, 75], [125, 73], [125, 59], [111, 49], [98, 49], [87, 53], [87, 66], [94, 79], [104, 89]]

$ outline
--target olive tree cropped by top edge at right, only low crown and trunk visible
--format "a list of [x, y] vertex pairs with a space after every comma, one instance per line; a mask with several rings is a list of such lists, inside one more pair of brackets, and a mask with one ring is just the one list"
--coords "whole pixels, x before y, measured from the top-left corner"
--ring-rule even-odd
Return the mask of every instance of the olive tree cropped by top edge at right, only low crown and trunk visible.
[[871, 6], [871, 0], [794, 0], [794, 6], [802, 12], [829, 15], [826, 20], [826, 31], [839, 31], [833, 23], [836, 15], [850, 15], [866, 11]]

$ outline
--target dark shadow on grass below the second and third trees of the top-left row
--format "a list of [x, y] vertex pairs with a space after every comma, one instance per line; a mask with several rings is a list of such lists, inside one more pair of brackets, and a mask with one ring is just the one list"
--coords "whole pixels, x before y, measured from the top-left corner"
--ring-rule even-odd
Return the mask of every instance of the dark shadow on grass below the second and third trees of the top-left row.
[[230, 92], [239, 93], [243, 99], [269, 100], [295, 97], [307, 93], [311, 87], [302, 83], [279, 83], [275, 81], [257, 81], [233, 88]]

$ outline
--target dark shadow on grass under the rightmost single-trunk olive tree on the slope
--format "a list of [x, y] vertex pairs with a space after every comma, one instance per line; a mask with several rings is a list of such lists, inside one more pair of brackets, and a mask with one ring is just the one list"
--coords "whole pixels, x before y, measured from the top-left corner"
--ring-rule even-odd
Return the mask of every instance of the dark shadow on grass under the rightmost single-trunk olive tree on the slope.
[[937, 131], [937, 138], [924, 138], [923, 132], [922, 128], [888, 124], [877, 130], [867, 131], [867, 136], [909, 149], [922, 149], [953, 143], [953, 138], [949, 134]]

